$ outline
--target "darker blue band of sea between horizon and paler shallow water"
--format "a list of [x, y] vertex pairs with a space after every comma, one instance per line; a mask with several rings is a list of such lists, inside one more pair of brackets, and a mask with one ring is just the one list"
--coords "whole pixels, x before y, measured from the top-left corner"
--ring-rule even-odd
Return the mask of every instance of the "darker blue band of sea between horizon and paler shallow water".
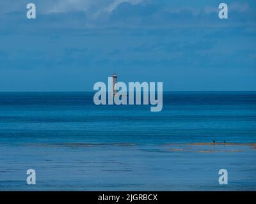
[[164, 92], [163, 110], [92, 92], [0, 93], [1, 143], [255, 142], [256, 92]]

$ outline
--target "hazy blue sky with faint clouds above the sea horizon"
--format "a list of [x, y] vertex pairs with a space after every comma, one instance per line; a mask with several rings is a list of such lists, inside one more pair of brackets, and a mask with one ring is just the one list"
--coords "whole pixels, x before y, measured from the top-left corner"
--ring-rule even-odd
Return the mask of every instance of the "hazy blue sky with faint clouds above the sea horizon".
[[93, 91], [113, 72], [164, 91], [256, 91], [256, 1], [0, 1], [0, 91]]

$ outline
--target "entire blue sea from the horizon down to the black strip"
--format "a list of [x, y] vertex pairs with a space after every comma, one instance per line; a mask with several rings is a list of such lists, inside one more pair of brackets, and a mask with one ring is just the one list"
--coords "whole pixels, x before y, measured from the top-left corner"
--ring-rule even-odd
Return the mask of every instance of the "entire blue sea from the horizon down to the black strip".
[[[212, 140], [237, 145], [190, 144]], [[3, 191], [256, 190], [248, 143], [256, 92], [164, 92], [161, 112], [96, 106], [93, 92], [0, 92]]]

